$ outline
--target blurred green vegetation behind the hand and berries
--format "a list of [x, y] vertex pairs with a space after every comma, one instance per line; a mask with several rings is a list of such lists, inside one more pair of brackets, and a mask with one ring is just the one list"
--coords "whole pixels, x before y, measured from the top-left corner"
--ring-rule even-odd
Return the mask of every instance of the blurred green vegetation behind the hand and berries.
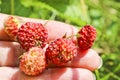
[[104, 62], [97, 80], [120, 80], [120, 0], [0, 0], [0, 13], [94, 25], [93, 48]]

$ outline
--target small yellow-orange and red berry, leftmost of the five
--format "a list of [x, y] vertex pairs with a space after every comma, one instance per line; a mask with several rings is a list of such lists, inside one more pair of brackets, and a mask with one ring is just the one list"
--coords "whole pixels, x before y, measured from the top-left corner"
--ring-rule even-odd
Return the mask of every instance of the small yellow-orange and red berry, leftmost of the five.
[[20, 27], [20, 23], [18, 19], [14, 16], [7, 17], [7, 19], [4, 22], [4, 31], [13, 40], [16, 40], [16, 35], [17, 35], [19, 27]]

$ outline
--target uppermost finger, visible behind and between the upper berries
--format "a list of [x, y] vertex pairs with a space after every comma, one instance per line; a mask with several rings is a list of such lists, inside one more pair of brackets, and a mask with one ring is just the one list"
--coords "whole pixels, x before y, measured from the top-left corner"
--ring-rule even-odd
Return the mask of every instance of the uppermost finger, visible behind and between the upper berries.
[[[4, 20], [7, 18], [8, 15], [5, 14], [0, 14], [0, 40], [11, 40], [10, 37], [4, 32]], [[17, 16], [18, 17], [18, 16]], [[40, 19], [30, 19], [30, 18], [24, 18], [20, 17], [24, 21], [27, 22], [38, 22], [42, 23], [43, 25], [47, 22], [47, 20], [40, 20]], [[48, 30], [48, 37], [49, 40], [54, 40], [59, 37], [64, 36], [67, 34], [67, 36], [70, 36], [72, 34], [77, 33], [77, 29], [73, 27], [72, 25], [65, 24], [63, 22], [58, 22], [58, 21], [48, 21], [45, 27]]]

